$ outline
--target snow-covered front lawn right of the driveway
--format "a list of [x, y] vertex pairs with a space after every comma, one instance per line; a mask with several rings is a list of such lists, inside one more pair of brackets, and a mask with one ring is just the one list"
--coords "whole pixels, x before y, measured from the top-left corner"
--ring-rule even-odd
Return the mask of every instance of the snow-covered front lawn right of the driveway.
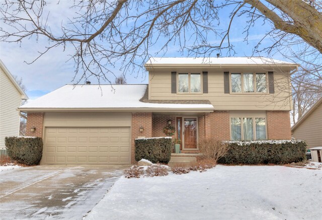
[[119, 179], [85, 219], [321, 219], [322, 172], [222, 166]]

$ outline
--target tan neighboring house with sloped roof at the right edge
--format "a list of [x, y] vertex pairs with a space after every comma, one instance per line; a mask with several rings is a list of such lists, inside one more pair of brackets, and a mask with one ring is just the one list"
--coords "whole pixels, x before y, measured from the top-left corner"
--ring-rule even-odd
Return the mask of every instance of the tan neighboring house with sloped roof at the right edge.
[[322, 146], [322, 98], [292, 126], [292, 136], [305, 140], [307, 148]]

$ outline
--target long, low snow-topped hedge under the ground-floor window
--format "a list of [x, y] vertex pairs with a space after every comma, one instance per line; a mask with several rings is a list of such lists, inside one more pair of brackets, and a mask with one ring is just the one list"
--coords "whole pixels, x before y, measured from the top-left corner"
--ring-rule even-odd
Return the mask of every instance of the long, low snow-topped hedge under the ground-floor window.
[[305, 160], [303, 140], [227, 141], [228, 152], [222, 164], [289, 164]]

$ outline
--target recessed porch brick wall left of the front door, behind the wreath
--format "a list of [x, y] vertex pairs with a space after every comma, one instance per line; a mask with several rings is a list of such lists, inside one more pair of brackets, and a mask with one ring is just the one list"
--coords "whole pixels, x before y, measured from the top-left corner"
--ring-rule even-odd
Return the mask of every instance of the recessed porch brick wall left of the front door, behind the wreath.
[[[175, 115], [153, 115], [152, 116], [152, 137], [166, 136], [166, 134], [163, 132], [163, 128], [168, 125], [168, 120], [171, 120], [171, 124], [176, 127]], [[176, 138], [176, 133], [171, 137]]]

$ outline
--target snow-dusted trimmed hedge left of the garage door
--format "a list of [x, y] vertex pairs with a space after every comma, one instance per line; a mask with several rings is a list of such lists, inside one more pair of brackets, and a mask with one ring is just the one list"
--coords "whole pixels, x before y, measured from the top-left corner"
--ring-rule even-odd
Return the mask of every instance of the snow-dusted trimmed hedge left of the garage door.
[[25, 165], [38, 165], [43, 149], [41, 137], [6, 137], [8, 156]]

